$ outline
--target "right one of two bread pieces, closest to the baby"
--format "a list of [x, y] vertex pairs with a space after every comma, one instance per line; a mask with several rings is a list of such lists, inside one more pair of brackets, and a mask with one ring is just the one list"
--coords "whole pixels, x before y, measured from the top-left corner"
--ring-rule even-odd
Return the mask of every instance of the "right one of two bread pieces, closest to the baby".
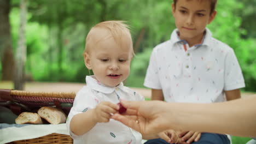
[[65, 123], [66, 114], [56, 107], [43, 106], [37, 111], [38, 115], [51, 124]]

